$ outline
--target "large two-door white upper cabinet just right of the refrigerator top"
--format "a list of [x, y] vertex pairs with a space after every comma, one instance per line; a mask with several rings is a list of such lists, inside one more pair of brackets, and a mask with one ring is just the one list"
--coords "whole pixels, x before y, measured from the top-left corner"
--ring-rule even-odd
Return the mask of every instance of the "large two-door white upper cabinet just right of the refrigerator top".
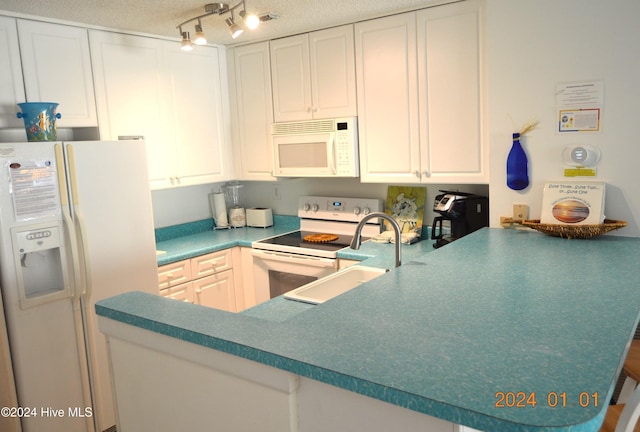
[[217, 48], [90, 31], [101, 139], [142, 136], [152, 189], [227, 179]]

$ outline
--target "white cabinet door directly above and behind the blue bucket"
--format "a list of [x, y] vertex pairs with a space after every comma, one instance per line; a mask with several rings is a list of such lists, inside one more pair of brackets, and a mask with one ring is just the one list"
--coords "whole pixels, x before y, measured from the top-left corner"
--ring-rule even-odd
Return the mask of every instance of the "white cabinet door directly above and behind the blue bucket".
[[87, 30], [18, 20], [27, 101], [57, 102], [58, 127], [97, 126]]

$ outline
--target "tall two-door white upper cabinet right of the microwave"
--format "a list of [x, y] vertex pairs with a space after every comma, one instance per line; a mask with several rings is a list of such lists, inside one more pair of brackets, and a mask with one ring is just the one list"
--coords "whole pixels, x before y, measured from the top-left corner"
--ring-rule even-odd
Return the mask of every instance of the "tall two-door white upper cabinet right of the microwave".
[[487, 183], [480, 2], [356, 24], [363, 182]]

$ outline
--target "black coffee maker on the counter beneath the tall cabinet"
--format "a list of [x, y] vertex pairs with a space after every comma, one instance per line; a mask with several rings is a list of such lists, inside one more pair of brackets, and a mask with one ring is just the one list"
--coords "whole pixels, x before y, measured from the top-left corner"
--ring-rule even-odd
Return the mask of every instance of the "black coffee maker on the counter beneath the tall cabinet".
[[[431, 239], [439, 248], [465, 235], [489, 226], [489, 198], [465, 192], [443, 192], [437, 195], [433, 211], [440, 216], [433, 218]], [[450, 232], [444, 235], [443, 221], [449, 221]]]

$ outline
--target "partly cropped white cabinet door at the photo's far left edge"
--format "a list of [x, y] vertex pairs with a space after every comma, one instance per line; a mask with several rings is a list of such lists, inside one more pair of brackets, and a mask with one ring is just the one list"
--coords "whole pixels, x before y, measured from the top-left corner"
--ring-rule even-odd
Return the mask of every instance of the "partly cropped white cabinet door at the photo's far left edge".
[[16, 117], [25, 102], [18, 30], [14, 18], [0, 17], [0, 128], [22, 127], [24, 122]]

